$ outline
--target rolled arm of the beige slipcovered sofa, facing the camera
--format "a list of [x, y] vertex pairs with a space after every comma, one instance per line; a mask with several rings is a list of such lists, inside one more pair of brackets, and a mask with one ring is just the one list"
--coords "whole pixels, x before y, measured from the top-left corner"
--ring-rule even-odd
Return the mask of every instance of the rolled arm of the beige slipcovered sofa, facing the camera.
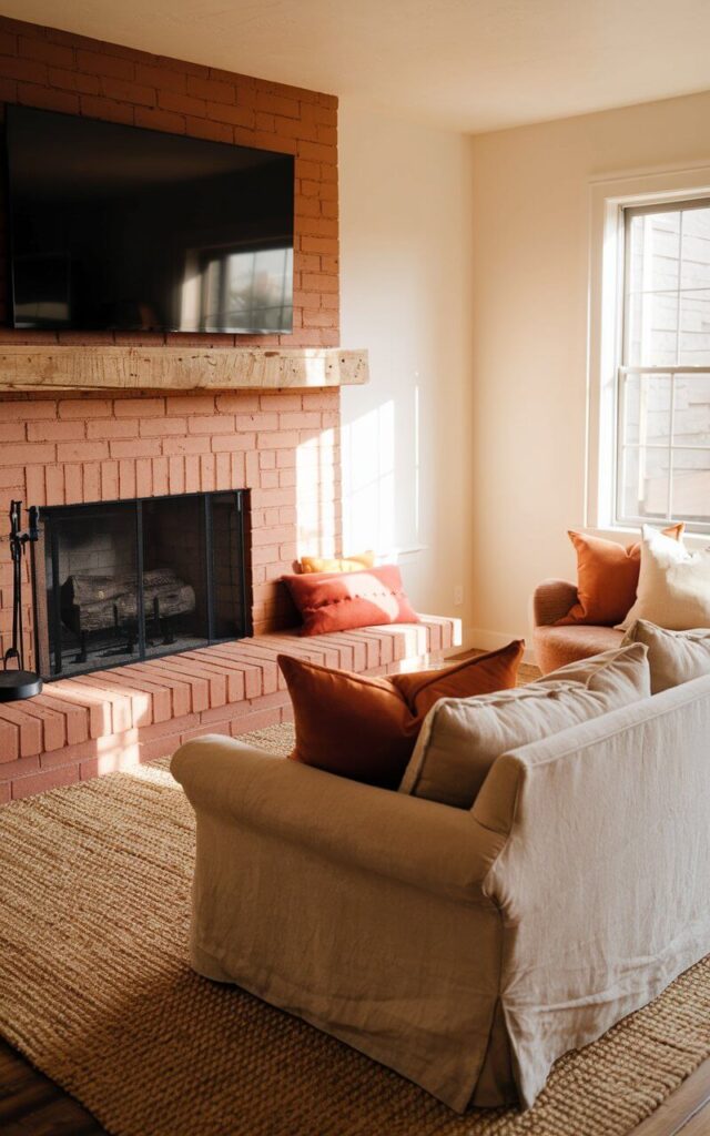
[[483, 882], [506, 837], [469, 812], [275, 758], [207, 736], [175, 753], [172, 772], [198, 816], [261, 830], [463, 902], [485, 902]]

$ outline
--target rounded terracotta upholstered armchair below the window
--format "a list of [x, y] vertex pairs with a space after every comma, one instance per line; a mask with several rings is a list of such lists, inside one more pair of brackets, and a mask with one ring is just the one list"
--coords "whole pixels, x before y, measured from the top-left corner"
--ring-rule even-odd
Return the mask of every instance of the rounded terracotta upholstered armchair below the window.
[[543, 675], [568, 662], [611, 651], [624, 638], [615, 627], [567, 624], [556, 627], [577, 603], [577, 588], [566, 579], [545, 579], [533, 594], [533, 651]]

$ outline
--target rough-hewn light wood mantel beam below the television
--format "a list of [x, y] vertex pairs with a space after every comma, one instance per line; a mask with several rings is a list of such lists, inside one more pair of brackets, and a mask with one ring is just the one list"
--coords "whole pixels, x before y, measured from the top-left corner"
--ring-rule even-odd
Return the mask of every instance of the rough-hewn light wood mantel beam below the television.
[[367, 382], [365, 350], [60, 344], [0, 346], [0, 393], [277, 390]]

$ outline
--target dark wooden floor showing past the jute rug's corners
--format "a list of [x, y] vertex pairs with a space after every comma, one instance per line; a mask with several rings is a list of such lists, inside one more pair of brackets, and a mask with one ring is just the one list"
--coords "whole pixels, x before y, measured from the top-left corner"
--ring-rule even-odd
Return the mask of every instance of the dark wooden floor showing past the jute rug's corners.
[[[106, 1129], [77, 1101], [0, 1039], [0, 1133], [2, 1136], [101, 1136]], [[628, 1136], [677, 1136], [678, 1133], [710, 1136], [710, 1060], [691, 1074], [660, 1109]], [[569, 1136], [584, 1136], [584, 1133], [575, 1131]]]

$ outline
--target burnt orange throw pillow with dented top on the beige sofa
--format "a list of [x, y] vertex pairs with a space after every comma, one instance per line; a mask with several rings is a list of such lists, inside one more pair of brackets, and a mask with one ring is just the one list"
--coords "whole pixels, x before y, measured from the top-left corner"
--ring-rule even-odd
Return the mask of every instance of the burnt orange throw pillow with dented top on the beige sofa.
[[293, 761], [396, 788], [427, 710], [442, 698], [491, 694], [516, 685], [521, 641], [442, 670], [368, 678], [279, 654], [293, 702]]

